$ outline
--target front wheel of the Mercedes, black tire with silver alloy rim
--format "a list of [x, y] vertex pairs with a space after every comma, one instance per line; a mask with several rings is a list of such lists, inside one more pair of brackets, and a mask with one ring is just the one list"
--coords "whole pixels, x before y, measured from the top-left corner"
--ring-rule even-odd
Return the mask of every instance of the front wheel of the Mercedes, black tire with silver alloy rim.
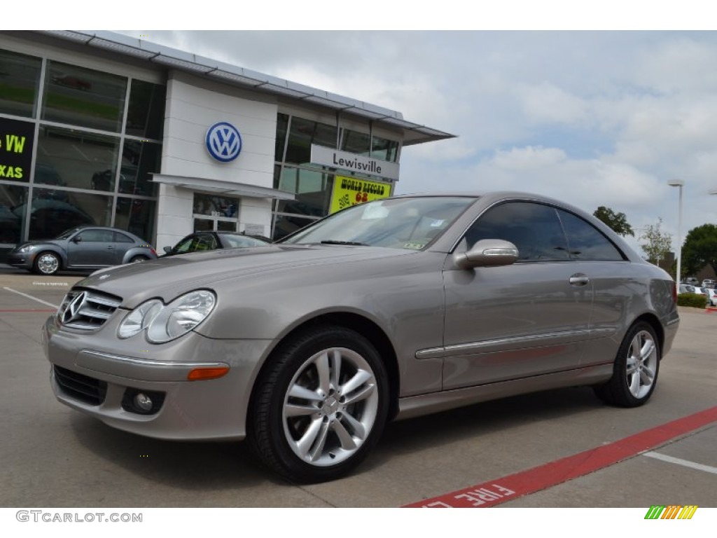
[[306, 331], [277, 350], [250, 405], [250, 443], [297, 483], [335, 480], [376, 445], [389, 409], [386, 368], [364, 336], [343, 327]]

